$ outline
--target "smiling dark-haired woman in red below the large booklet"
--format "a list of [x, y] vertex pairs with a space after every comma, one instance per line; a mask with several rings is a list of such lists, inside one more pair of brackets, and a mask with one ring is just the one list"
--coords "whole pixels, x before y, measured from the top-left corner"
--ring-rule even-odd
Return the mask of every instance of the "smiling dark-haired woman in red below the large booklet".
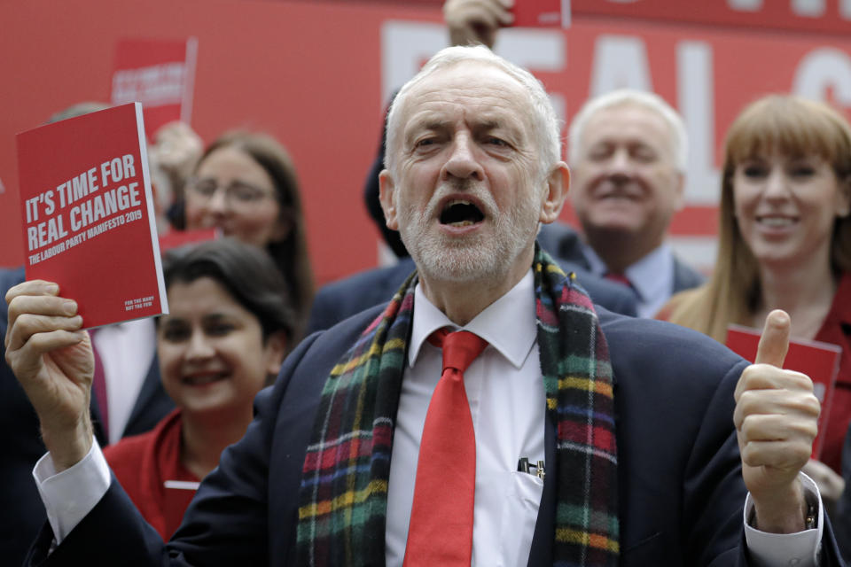
[[170, 313], [157, 324], [160, 376], [176, 410], [106, 447], [106, 461], [168, 539], [194, 487], [251, 423], [257, 392], [292, 345], [293, 315], [269, 255], [230, 238], [177, 250], [164, 266]]

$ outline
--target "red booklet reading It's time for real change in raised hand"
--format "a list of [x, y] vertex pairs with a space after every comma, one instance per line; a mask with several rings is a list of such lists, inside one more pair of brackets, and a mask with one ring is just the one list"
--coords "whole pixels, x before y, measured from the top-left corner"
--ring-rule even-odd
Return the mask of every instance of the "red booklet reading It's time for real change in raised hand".
[[168, 313], [142, 105], [17, 136], [27, 279], [59, 283], [83, 325]]

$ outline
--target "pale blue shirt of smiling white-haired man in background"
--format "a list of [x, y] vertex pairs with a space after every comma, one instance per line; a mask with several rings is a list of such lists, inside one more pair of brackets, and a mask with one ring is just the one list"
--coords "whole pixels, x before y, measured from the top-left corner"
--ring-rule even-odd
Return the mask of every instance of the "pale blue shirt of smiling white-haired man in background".
[[[605, 276], [609, 268], [590, 246], [582, 250], [595, 276]], [[636, 261], [624, 272], [636, 294], [639, 317], [653, 317], [668, 303], [674, 293], [674, 252], [663, 242], [658, 248]]]

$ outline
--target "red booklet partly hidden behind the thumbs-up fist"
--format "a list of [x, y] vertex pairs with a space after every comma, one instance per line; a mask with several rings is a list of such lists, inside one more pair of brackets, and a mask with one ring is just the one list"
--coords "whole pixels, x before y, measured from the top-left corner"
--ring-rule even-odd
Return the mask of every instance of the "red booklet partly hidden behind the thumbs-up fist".
[[[756, 358], [756, 348], [760, 344], [760, 331], [741, 325], [730, 325], [727, 328], [727, 346], [742, 358], [753, 362]], [[824, 445], [824, 424], [831, 412], [833, 389], [839, 374], [839, 346], [815, 340], [789, 341], [789, 351], [786, 353], [783, 368], [806, 374], [813, 381], [816, 397], [822, 402], [822, 413], [818, 416], [818, 436], [813, 443], [812, 457], [816, 460], [822, 454]]]

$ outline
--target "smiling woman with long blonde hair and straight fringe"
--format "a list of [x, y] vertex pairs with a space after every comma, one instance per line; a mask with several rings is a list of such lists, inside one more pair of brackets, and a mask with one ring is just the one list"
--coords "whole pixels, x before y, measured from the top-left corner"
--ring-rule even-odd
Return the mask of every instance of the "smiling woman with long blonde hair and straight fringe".
[[730, 126], [724, 146], [714, 274], [660, 313], [724, 342], [730, 323], [761, 328], [781, 308], [793, 338], [841, 346], [822, 453], [836, 472], [851, 421], [849, 209], [847, 120], [800, 97], [757, 100]]

